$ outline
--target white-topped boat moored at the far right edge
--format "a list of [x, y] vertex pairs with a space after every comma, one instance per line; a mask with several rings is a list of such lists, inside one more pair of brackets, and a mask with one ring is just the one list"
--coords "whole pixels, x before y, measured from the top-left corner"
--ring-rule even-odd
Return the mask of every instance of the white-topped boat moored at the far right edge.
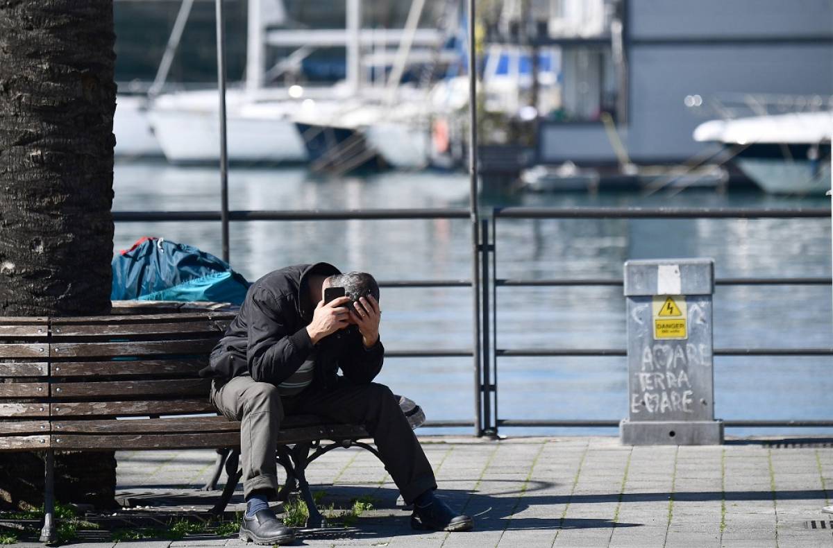
[[698, 142], [731, 148], [737, 167], [773, 194], [824, 194], [831, 188], [833, 112], [791, 112], [711, 120]]

